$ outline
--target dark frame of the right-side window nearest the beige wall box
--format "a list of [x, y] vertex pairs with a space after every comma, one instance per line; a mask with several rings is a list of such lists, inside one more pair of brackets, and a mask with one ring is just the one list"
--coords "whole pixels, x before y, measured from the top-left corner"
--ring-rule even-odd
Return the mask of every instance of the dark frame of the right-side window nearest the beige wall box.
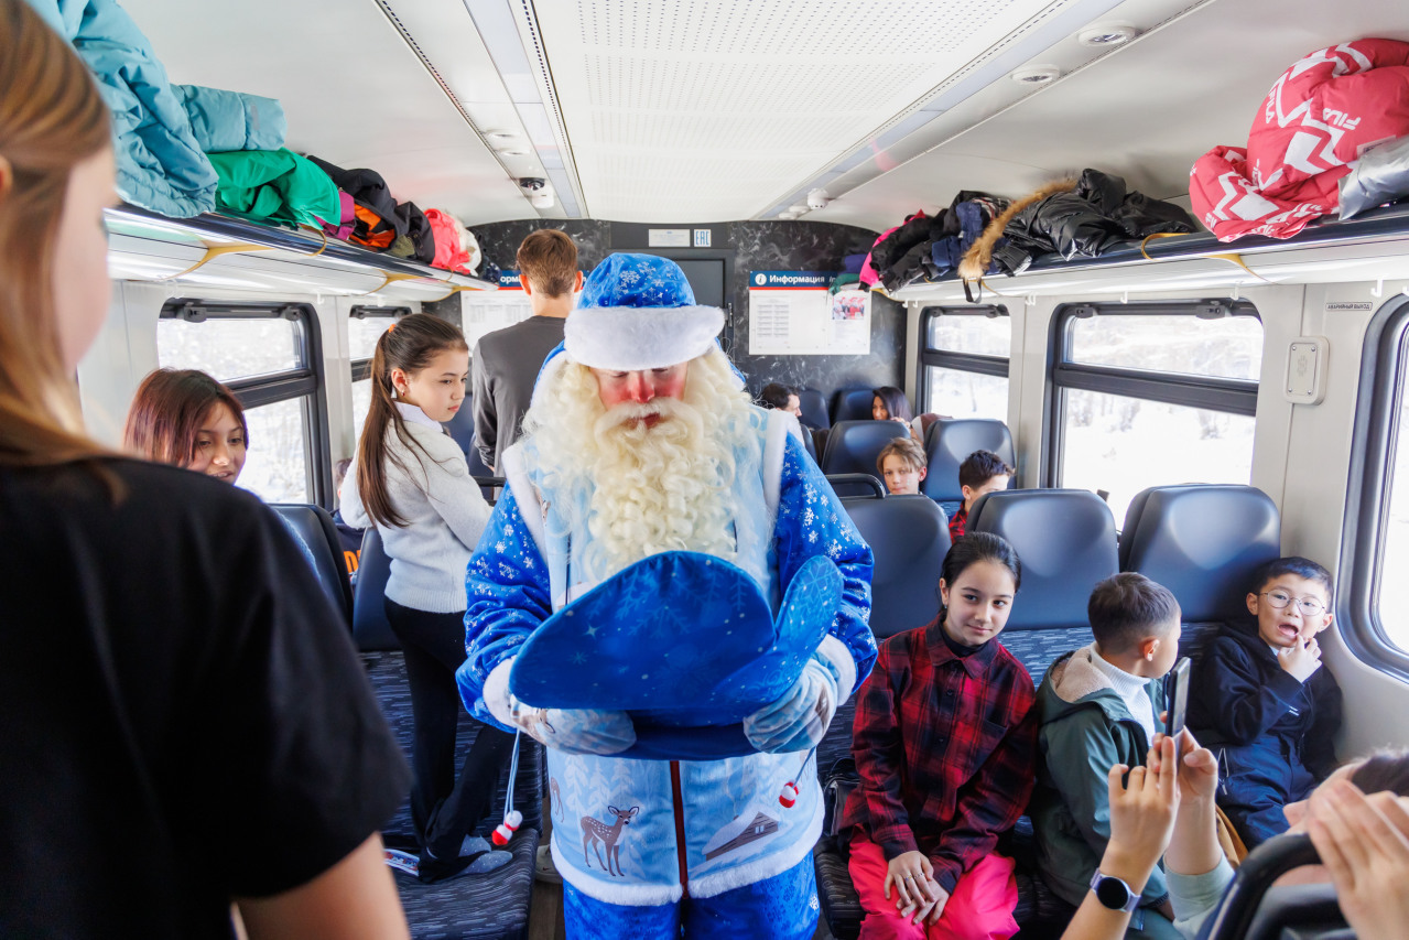
[[[1257, 417], [1258, 382], [1224, 379], [1178, 372], [1126, 369], [1110, 365], [1089, 365], [1071, 361], [1071, 345], [1076, 320], [1102, 317], [1191, 316], [1200, 320], [1223, 317], [1254, 317], [1261, 324], [1257, 307], [1241, 300], [1154, 300], [1154, 302], [1084, 302], [1064, 303], [1053, 310], [1053, 328], [1047, 341], [1047, 378], [1043, 393], [1043, 441], [1040, 479], [1043, 486], [1061, 486], [1061, 466], [1067, 445], [1067, 392], [1098, 392], [1122, 397], [1179, 404]], [[1265, 333], [1264, 333], [1265, 335]], [[1119, 520], [1117, 520], [1119, 524]]]

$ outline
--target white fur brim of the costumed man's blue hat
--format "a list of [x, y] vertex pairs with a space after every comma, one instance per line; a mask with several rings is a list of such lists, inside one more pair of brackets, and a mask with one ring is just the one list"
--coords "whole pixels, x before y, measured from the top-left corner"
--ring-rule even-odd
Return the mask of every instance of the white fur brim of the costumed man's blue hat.
[[664, 369], [704, 355], [724, 328], [719, 307], [578, 307], [562, 341], [573, 362], [593, 369]]

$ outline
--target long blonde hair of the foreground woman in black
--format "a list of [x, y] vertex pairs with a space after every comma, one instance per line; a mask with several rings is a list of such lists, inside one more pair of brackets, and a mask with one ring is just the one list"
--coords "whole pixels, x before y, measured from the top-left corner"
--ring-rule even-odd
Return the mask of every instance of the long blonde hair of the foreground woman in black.
[[54, 275], [73, 168], [110, 147], [77, 54], [24, 0], [0, 0], [0, 465], [97, 457], [59, 347]]

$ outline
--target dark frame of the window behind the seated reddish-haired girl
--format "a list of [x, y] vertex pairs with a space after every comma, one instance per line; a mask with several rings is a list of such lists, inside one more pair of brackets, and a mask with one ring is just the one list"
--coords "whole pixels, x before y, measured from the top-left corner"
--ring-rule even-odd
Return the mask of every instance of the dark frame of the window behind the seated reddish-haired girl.
[[[279, 300], [199, 300], [173, 297], [162, 304], [162, 320], [289, 320], [299, 350], [294, 369], [254, 375], [225, 382], [244, 409], [252, 410], [279, 402], [309, 399], [303, 409], [303, 431], [307, 441], [306, 483], [310, 502], [327, 507], [333, 497], [333, 448], [330, 445], [327, 382], [323, 376], [323, 335], [318, 316], [310, 303]], [[158, 355], [161, 355], [158, 352]]]

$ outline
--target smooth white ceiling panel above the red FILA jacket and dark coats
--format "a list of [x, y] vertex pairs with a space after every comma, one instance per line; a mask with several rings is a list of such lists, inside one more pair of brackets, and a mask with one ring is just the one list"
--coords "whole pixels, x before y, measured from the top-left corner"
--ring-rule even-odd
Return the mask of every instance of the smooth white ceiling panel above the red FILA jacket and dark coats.
[[945, 116], [948, 132], [933, 149], [806, 217], [882, 230], [948, 204], [960, 189], [1016, 197], [1085, 166], [1188, 206], [1193, 161], [1220, 144], [1246, 145], [1278, 75], [1308, 52], [1367, 35], [1409, 41], [1402, 3], [1208, 3], [1007, 109], [985, 113], [975, 96]]

